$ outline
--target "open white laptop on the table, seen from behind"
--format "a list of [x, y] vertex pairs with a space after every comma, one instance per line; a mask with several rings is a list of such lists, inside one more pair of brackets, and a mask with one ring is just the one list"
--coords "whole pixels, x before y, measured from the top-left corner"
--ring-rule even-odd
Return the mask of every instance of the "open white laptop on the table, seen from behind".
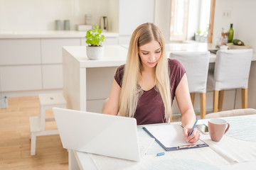
[[139, 161], [137, 121], [65, 108], [53, 108], [65, 149]]

